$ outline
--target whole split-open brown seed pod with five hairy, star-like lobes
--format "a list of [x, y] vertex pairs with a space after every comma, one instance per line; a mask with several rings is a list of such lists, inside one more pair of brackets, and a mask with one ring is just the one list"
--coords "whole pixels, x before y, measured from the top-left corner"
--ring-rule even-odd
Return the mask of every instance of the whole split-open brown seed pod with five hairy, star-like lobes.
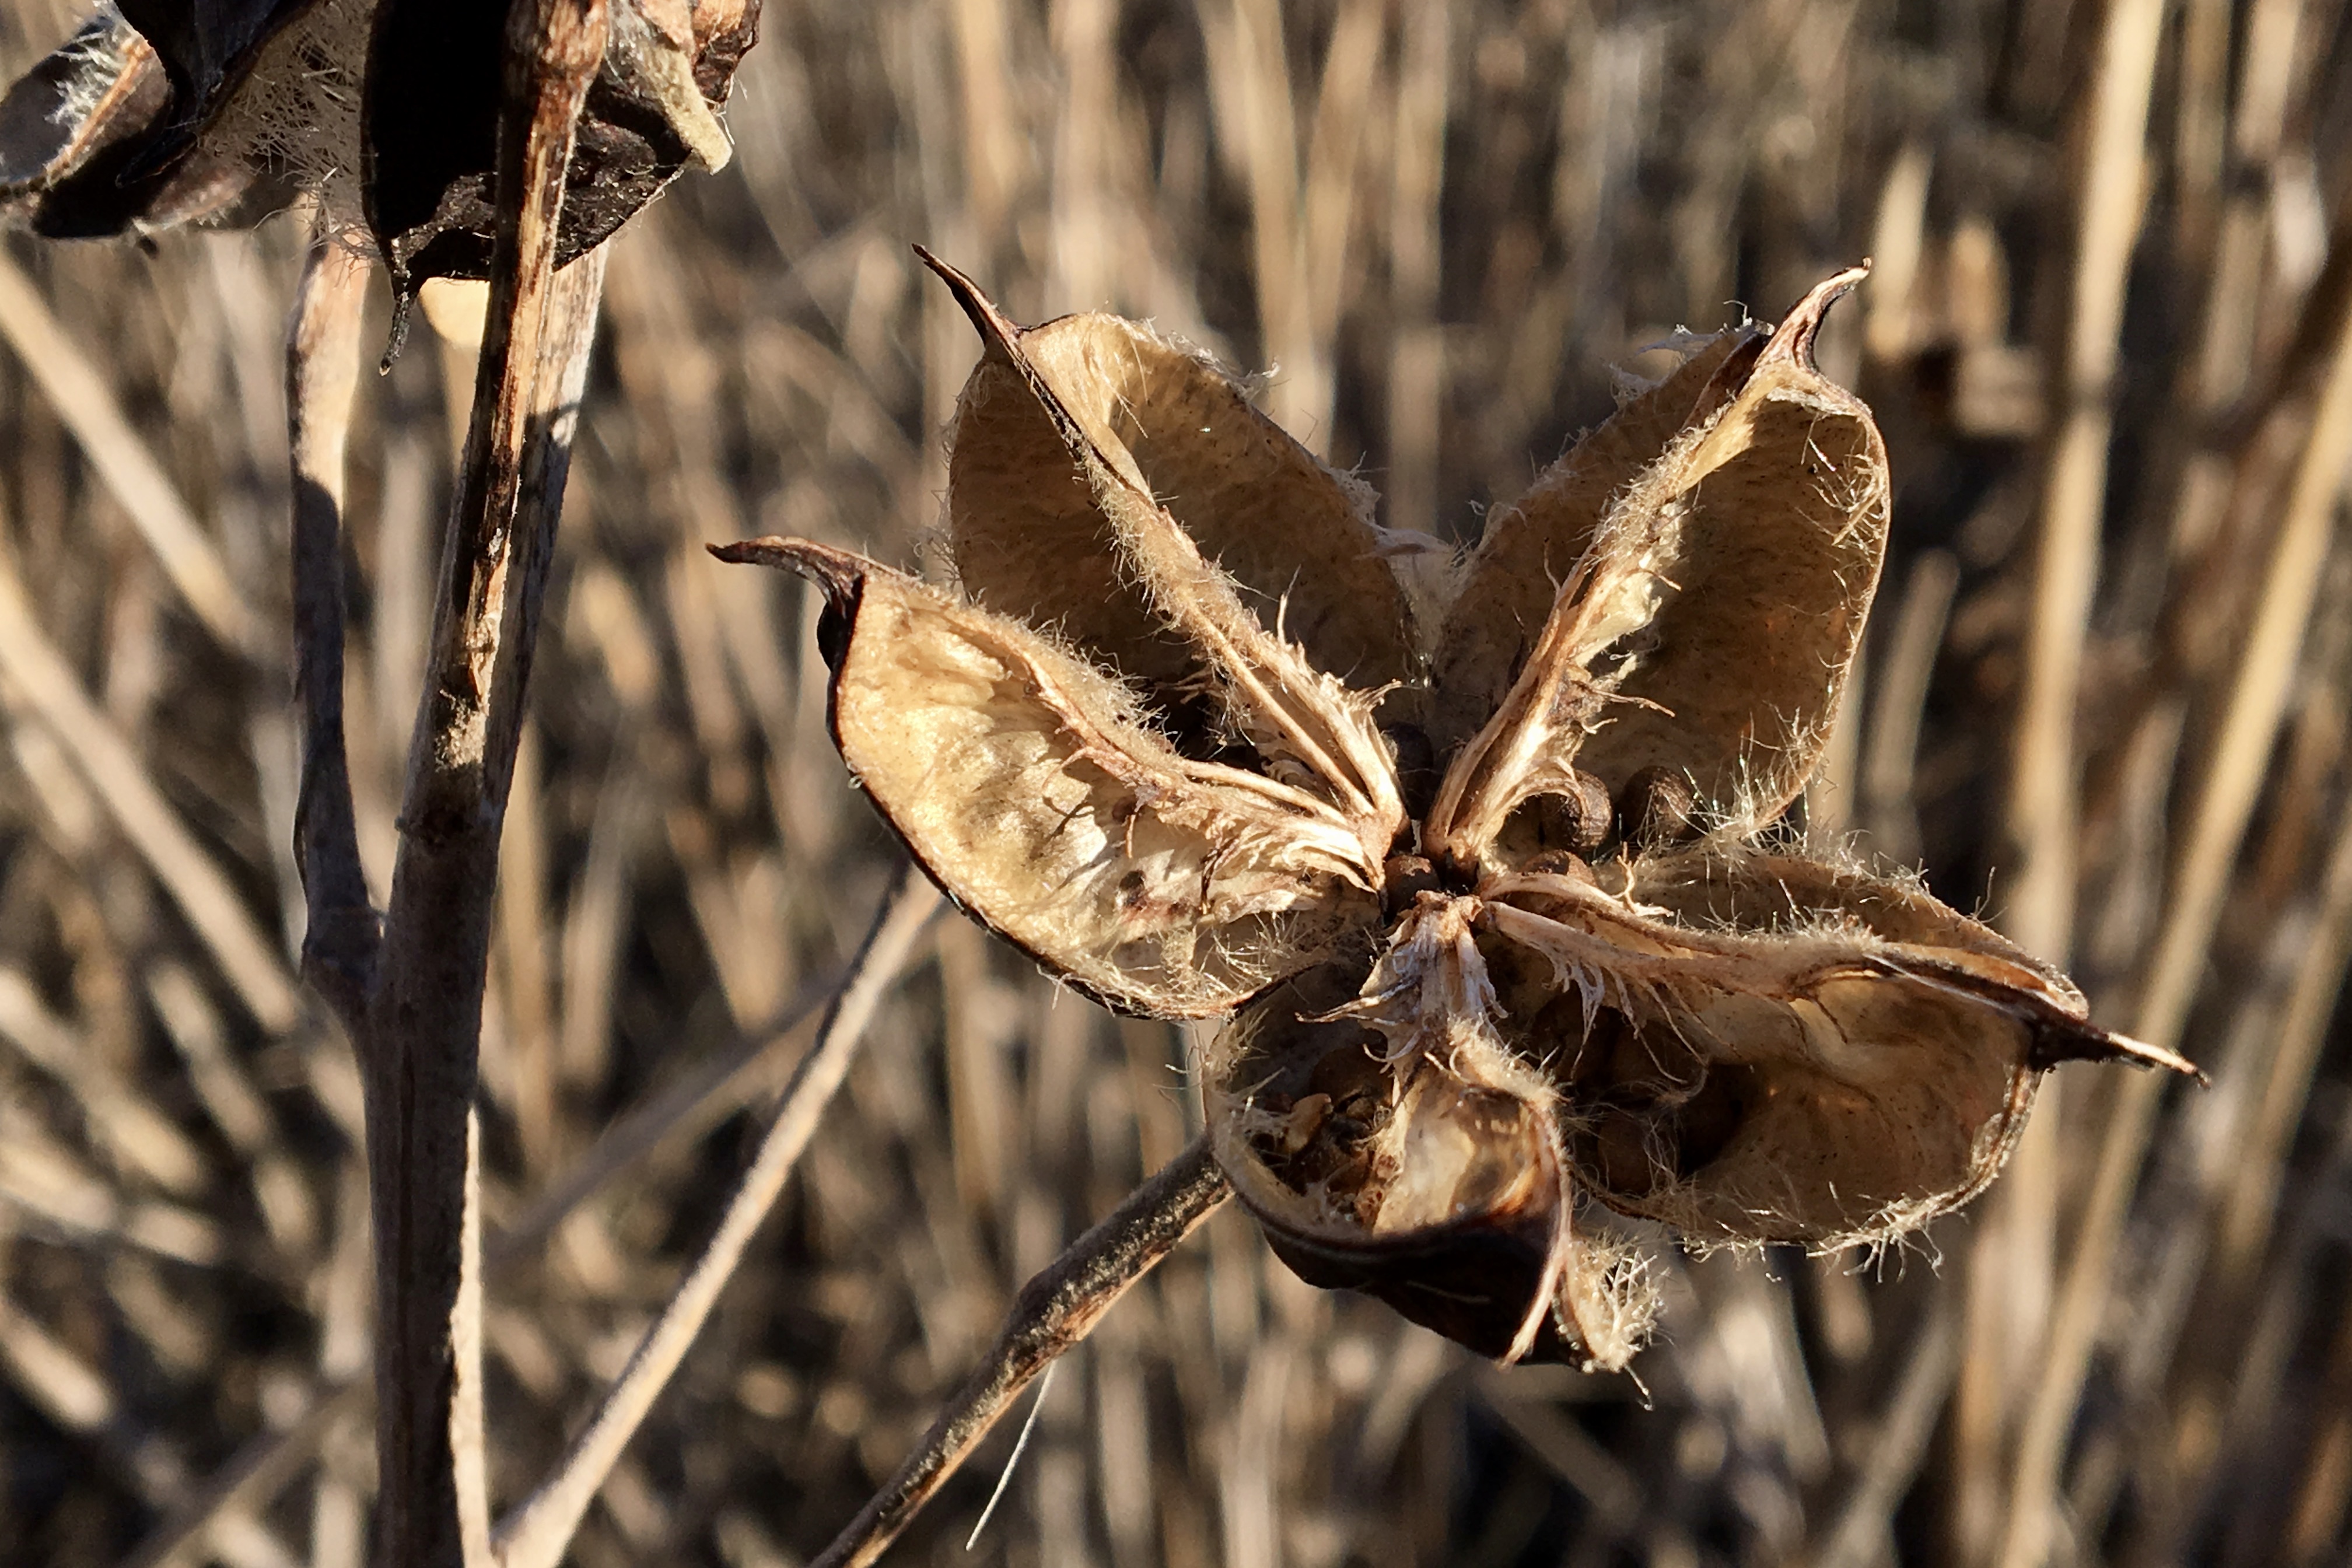
[[[1649, 1239], [1875, 1244], [1994, 1178], [2060, 1060], [2180, 1058], [1903, 877], [1773, 846], [1886, 543], [1830, 303], [1689, 343], [1435, 597], [1442, 545], [1150, 327], [1009, 322], [957, 404], [955, 585], [826, 595], [833, 733], [955, 900], [1091, 997], [1225, 1018], [1216, 1159], [1303, 1279], [1623, 1368]], [[1418, 614], [1416, 614], [1418, 607]]]

